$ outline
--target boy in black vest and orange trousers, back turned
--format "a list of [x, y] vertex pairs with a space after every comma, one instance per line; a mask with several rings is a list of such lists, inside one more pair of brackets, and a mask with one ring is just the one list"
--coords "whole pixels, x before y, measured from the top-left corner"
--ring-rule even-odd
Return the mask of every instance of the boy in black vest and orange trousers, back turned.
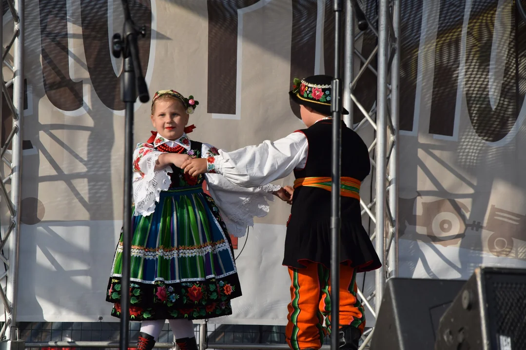
[[[300, 104], [307, 129], [258, 146], [186, 161], [185, 173], [218, 173], [244, 187], [266, 185], [294, 172], [292, 208], [287, 223], [283, 264], [292, 285], [288, 306], [287, 342], [292, 349], [319, 349], [326, 316], [330, 333], [330, 190], [332, 119], [330, 76], [295, 79], [290, 98]], [[344, 109], [343, 114], [348, 114]], [[378, 269], [381, 263], [361, 224], [359, 191], [369, 175], [369, 152], [357, 133], [341, 130], [341, 266], [340, 348], [357, 349], [365, 327], [363, 307], [356, 297], [356, 273]], [[290, 189], [292, 192], [292, 189]]]

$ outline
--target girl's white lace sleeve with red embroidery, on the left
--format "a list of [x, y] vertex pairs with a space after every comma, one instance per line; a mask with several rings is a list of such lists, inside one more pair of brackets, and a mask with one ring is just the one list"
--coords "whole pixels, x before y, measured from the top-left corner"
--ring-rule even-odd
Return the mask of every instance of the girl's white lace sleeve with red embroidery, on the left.
[[133, 197], [135, 216], [148, 216], [155, 210], [159, 194], [170, 187], [171, 167], [155, 170], [155, 163], [163, 152], [149, 143], [139, 143], [133, 154]]

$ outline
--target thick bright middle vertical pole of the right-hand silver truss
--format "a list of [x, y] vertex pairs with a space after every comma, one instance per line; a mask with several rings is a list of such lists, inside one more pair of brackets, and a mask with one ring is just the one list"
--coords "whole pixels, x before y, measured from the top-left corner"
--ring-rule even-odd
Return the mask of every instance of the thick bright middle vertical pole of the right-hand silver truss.
[[378, 96], [376, 136], [376, 251], [382, 267], [376, 270], [375, 309], [378, 314], [386, 284], [386, 176], [387, 176], [387, 72], [388, 72], [388, 0], [379, 0], [378, 10]]

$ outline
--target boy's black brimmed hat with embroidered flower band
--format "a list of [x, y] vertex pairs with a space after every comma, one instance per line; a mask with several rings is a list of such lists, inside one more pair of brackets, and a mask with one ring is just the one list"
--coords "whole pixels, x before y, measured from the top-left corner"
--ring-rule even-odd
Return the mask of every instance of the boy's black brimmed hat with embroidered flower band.
[[[289, 96], [298, 104], [310, 107], [321, 114], [331, 115], [332, 79], [331, 76], [325, 75], [310, 76], [302, 80], [294, 78]], [[349, 112], [342, 108], [341, 114], [349, 114]]]

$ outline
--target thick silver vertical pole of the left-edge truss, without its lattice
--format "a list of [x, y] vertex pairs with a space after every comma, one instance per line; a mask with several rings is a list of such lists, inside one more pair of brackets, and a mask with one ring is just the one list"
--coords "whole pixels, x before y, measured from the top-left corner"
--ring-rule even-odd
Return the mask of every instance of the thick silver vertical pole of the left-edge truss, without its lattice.
[[[15, 33], [17, 38], [13, 45], [13, 128], [17, 131], [13, 136], [12, 160], [13, 165], [11, 177], [11, 201], [14, 207], [12, 221], [15, 226], [9, 237], [9, 267], [7, 271], [6, 297], [11, 304], [11, 312], [7, 315], [7, 340], [15, 340], [14, 326], [16, 322], [16, 293], [17, 293], [17, 273], [18, 273], [18, 246], [20, 228], [20, 201], [21, 201], [21, 181], [22, 181], [22, 124], [24, 119], [24, 0], [14, 1], [15, 13]], [[18, 20], [16, 20], [18, 19]], [[3, 81], [2, 81], [3, 83]], [[9, 97], [6, 96], [8, 99]]]

